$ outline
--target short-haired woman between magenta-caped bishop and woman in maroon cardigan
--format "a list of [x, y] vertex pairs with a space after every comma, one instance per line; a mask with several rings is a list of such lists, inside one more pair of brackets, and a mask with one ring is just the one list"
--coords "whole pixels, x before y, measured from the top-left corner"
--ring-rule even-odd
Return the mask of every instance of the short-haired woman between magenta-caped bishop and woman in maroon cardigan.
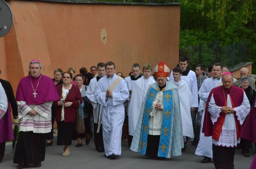
[[[55, 86], [63, 84], [62, 74], [63, 74], [63, 71], [61, 70], [61, 68], [54, 70], [54, 79], [52, 79], [52, 80], [54, 81]], [[52, 130], [51, 130], [51, 132], [46, 134], [46, 140], [47, 140], [46, 146], [50, 146], [53, 143], [53, 141], [52, 141], [53, 125], [54, 125], [54, 121], [55, 121], [55, 116], [56, 116], [56, 108], [54, 107], [54, 105], [52, 105]]]

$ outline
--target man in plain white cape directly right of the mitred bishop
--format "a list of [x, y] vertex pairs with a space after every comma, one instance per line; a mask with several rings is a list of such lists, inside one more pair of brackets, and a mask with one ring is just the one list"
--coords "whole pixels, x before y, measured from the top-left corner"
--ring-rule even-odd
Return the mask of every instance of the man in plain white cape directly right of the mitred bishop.
[[[187, 83], [181, 79], [182, 73], [180, 68], [173, 69], [174, 80], [171, 83], [178, 86], [178, 94], [180, 98], [180, 113], [182, 119], [183, 136], [194, 137], [190, 108], [192, 105], [192, 94]], [[184, 146], [185, 147], [185, 146]]]

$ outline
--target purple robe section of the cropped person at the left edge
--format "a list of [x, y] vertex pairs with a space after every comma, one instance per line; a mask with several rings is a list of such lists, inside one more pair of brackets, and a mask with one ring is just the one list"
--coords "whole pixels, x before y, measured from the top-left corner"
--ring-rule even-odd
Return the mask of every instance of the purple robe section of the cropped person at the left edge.
[[0, 119], [0, 143], [13, 140], [13, 125], [11, 123], [11, 111], [8, 101], [6, 114]]

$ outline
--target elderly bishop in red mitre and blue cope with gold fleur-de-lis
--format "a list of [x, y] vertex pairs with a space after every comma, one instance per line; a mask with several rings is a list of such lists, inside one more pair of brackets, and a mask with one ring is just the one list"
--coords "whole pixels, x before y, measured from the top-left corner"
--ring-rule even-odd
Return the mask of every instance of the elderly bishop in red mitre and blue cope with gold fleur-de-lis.
[[164, 62], [154, 68], [157, 83], [148, 88], [130, 148], [154, 159], [179, 156], [184, 147], [178, 90], [167, 82], [169, 72]]

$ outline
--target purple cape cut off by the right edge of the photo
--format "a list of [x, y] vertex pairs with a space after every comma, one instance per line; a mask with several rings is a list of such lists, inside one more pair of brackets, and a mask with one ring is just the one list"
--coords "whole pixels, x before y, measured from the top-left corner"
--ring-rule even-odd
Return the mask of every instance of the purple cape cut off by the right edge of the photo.
[[246, 140], [256, 143], [256, 108], [255, 108], [256, 97], [250, 108], [250, 112], [244, 122], [240, 136]]

